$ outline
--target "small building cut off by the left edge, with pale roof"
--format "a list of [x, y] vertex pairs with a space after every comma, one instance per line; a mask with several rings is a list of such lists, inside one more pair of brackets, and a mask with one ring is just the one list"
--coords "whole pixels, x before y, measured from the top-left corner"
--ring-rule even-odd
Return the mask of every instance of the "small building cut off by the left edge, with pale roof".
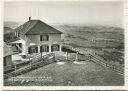
[[4, 43], [4, 60], [3, 60], [4, 72], [10, 71], [13, 67], [12, 54], [13, 52], [11, 48], [9, 48], [9, 46], [6, 43]]

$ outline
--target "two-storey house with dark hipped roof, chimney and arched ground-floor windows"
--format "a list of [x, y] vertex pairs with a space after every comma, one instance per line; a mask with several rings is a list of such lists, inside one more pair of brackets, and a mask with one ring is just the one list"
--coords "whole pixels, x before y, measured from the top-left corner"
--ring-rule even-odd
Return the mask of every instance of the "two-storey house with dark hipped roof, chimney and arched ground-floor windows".
[[15, 29], [19, 39], [9, 44], [22, 55], [61, 51], [61, 34], [41, 20], [31, 20], [29, 17], [29, 21]]

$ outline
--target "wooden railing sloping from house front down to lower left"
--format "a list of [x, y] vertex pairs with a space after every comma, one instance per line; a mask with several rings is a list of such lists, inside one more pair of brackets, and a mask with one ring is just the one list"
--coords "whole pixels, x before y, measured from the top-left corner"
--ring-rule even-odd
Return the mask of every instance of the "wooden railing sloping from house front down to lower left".
[[50, 53], [44, 56], [37, 55], [33, 57], [32, 59], [30, 59], [30, 61], [31, 62], [28, 65], [23, 66], [19, 69], [15, 68], [15, 71], [8, 73], [8, 74], [4, 74], [4, 78], [15, 77], [17, 75], [21, 75], [31, 70], [34, 70], [39, 67], [45, 66], [47, 64], [53, 63], [55, 62], [55, 54]]

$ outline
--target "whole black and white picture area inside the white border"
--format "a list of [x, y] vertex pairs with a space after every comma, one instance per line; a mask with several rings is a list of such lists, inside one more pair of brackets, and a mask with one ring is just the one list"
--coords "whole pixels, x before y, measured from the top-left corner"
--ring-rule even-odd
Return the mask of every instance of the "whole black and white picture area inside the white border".
[[6, 1], [3, 28], [4, 86], [125, 85], [123, 1]]

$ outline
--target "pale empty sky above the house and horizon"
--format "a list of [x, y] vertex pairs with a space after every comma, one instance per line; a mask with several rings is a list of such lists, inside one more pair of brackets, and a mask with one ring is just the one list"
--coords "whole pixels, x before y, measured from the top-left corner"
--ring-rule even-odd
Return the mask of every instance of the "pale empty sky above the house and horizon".
[[121, 1], [5, 2], [4, 21], [26, 22], [28, 17], [47, 24], [123, 27]]

